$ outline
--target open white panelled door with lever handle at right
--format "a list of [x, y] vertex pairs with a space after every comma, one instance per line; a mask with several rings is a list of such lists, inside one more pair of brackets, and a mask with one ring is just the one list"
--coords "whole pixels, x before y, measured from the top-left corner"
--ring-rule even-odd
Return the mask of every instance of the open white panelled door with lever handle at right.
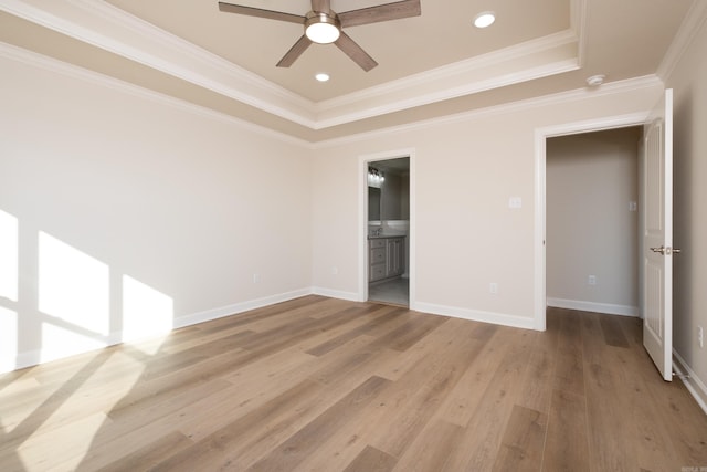
[[673, 90], [644, 127], [645, 223], [643, 228], [643, 345], [673, 379]]

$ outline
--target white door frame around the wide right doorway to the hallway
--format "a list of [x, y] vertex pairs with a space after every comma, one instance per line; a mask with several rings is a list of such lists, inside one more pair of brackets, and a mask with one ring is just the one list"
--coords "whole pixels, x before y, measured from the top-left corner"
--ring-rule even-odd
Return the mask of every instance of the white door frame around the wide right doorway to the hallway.
[[564, 123], [535, 130], [535, 316], [534, 328], [546, 331], [547, 253], [545, 248], [547, 218], [547, 139], [606, 129], [643, 126], [650, 111], [629, 115], [608, 116], [584, 122]]

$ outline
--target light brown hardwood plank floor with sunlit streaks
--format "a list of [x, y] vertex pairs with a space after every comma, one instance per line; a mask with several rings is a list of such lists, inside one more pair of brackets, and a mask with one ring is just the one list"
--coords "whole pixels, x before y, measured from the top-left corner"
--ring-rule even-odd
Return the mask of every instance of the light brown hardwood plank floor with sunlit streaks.
[[538, 333], [306, 296], [1, 376], [0, 423], [1, 471], [707, 468], [640, 322], [560, 310]]

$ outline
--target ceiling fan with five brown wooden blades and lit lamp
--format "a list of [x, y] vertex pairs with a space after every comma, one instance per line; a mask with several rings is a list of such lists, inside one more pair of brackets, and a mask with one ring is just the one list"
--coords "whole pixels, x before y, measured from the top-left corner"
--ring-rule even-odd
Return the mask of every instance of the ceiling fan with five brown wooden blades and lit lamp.
[[229, 13], [303, 24], [305, 34], [303, 34], [295, 45], [279, 60], [277, 63], [278, 67], [289, 67], [314, 42], [318, 44], [336, 44], [337, 48], [344, 51], [346, 55], [351, 57], [351, 60], [366, 72], [376, 67], [378, 63], [348, 34], [341, 31], [341, 29], [381, 21], [399, 20], [401, 18], [419, 17], [422, 14], [420, 0], [403, 0], [342, 13], [336, 13], [331, 10], [330, 4], [330, 0], [312, 0], [312, 11], [304, 17], [222, 1], [219, 2], [219, 10]]

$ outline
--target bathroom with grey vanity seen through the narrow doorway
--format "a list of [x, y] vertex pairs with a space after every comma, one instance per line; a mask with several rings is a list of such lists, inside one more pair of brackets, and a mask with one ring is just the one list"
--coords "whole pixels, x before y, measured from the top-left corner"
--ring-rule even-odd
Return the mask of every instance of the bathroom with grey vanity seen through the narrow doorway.
[[367, 166], [367, 300], [409, 306], [410, 157]]

